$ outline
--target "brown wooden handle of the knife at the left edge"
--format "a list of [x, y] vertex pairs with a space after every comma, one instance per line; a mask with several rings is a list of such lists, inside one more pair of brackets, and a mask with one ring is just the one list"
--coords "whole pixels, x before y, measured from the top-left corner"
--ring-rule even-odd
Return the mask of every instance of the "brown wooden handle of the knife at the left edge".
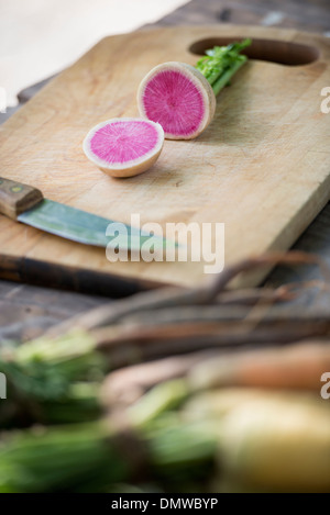
[[0, 213], [16, 220], [21, 213], [30, 210], [43, 200], [36, 188], [0, 177]]

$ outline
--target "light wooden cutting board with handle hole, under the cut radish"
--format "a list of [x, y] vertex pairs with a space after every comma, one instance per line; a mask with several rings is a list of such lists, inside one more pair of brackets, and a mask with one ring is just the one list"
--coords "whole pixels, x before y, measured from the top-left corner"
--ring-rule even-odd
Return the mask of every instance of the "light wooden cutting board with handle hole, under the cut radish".
[[[152, 169], [125, 180], [86, 159], [81, 143], [91, 126], [138, 115], [136, 89], [153, 66], [194, 65], [209, 46], [248, 36], [254, 41], [251, 60], [219, 94], [215, 120], [201, 136], [166, 141]], [[107, 37], [0, 127], [0, 176], [125, 223], [131, 213], [163, 227], [223, 222], [228, 266], [287, 249], [329, 200], [330, 113], [320, 109], [327, 86], [330, 40], [314, 34], [210, 25]], [[9, 279], [85, 290], [194, 286], [210, 279], [204, 265], [110, 264], [103, 249], [0, 217], [0, 269]], [[261, 279], [251, 276], [245, 284]]]

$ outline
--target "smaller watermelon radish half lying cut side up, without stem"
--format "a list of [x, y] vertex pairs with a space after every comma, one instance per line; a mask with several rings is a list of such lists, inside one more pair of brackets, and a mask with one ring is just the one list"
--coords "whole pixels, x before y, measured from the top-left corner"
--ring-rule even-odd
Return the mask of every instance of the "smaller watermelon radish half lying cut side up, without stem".
[[164, 131], [150, 120], [121, 117], [99, 123], [84, 141], [88, 159], [112, 177], [132, 177], [158, 158]]

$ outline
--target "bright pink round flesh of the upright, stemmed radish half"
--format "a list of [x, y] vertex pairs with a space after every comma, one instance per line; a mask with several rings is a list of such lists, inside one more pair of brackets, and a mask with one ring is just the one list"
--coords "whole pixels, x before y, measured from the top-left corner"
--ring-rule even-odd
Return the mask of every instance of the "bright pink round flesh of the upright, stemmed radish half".
[[167, 133], [187, 136], [198, 130], [204, 117], [200, 91], [179, 71], [157, 74], [147, 83], [143, 101], [146, 116]]

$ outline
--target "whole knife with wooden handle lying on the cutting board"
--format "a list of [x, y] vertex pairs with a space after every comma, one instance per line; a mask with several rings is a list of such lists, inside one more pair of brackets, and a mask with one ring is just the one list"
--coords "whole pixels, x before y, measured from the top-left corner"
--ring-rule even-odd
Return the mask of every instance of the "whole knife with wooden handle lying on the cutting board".
[[[107, 227], [111, 223], [118, 223], [114, 220], [44, 199], [38, 189], [1, 177], [0, 213], [46, 233], [97, 247], [111, 245], [111, 237], [106, 235]], [[116, 246], [121, 248], [140, 250], [143, 243], [153, 236], [138, 227], [122, 225], [127, 229], [123, 232], [125, 234], [116, 235]], [[153, 236], [153, 242], [156, 243], [158, 249], [165, 248], [165, 238]]]

